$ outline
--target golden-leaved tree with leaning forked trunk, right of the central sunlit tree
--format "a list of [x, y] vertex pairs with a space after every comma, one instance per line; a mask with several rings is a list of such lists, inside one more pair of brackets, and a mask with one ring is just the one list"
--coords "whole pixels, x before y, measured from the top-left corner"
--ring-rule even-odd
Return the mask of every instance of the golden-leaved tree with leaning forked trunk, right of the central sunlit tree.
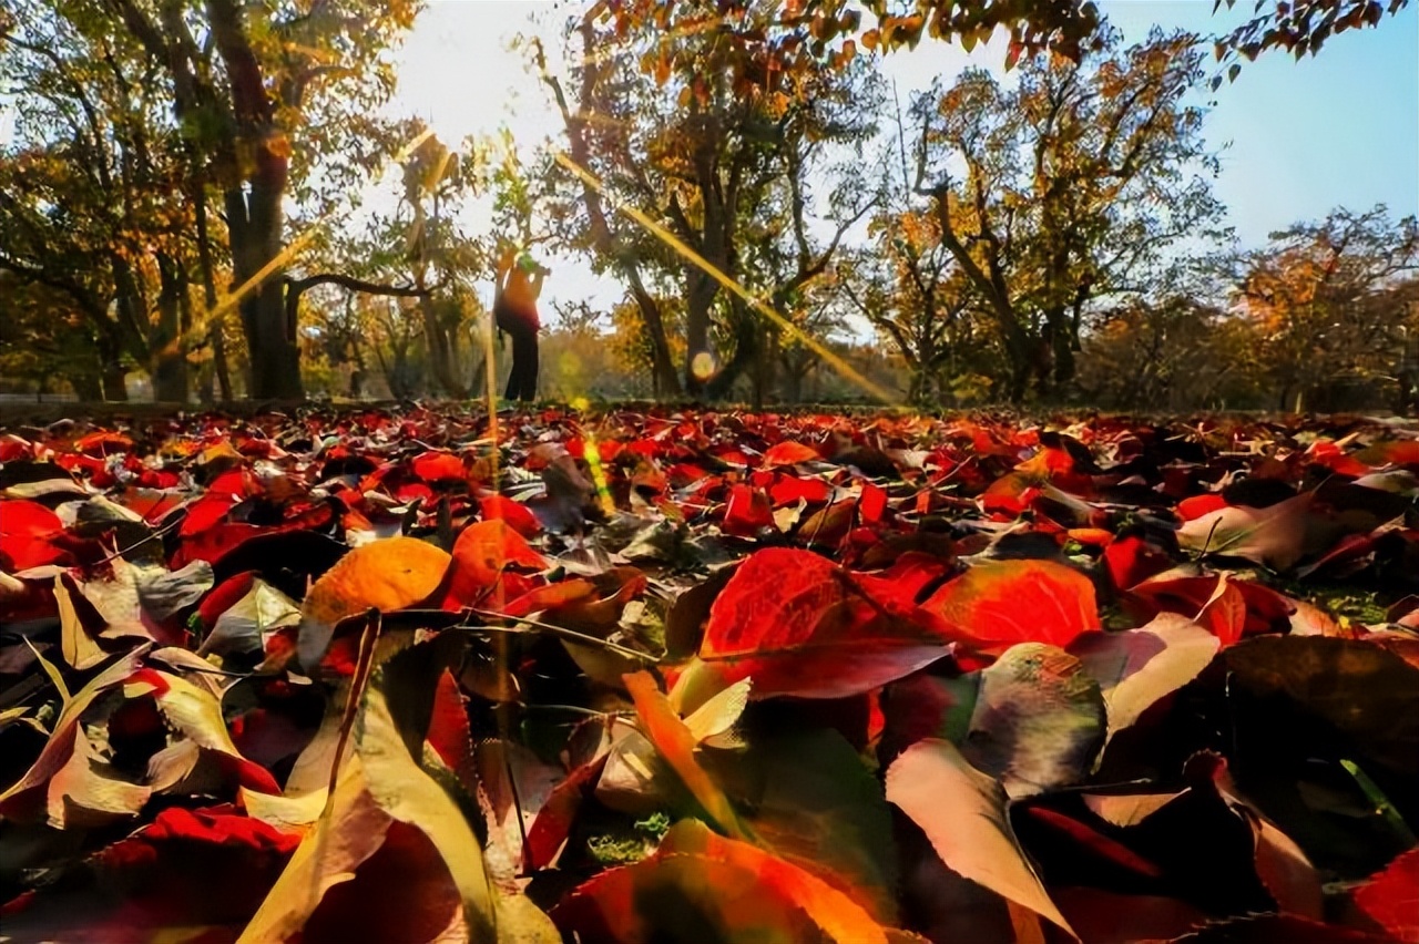
[[995, 322], [1012, 401], [1069, 384], [1091, 300], [1138, 291], [1183, 238], [1223, 235], [1192, 40], [1110, 34], [1080, 62], [1029, 61], [1013, 91], [971, 69], [912, 103], [914, 190]]

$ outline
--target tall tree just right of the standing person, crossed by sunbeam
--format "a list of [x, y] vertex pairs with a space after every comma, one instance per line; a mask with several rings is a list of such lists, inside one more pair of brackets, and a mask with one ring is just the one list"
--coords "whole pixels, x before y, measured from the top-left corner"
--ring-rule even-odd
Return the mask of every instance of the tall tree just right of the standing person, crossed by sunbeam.
[[[779, 31], [763, 9], [724, 13], [701, 4], [701, 13], [722, 28]], [[826, 268], [824, 247], [810, 245], [805, 228], [812, 213], [809, 174], [820, 166], [822, 149], [851, 145], [871, 135], [868, 115], [876, 92], [866, 65], [796, 72], [772, 89], [746, 77], [755, 68], [734, 43], [714, 31], [666, 34], [653, 11], [622, 18], [612, 7], [595, 7], [573, 23], [570, 38], [582, 47], [573, 67], [578, 99], [536, 61], [566, 123], [569, 157], [578, 174], [576, 200], [563, 197], [563, 227], [582, 234], [579, 248], [595, 249], [622, 275], [646, 320], [657, 387], [719, 395], [759, 360], [758, 315], [739, 295], [722, 295], [721, 279], [741, 282], [749, 272], [749, 230], [769, 227], [769, 217], [797, 214], [779, 230], [796, 247], [792, 274], [799, 285]], [[647, 64], [654, 68], [644, 69]], [[797, 187], [795, 196], [793, 187]], [[604, 204], [630, 207], [641, 225], [607, 217]], [[850, 220], [851, 211], [847, 213]], [[575, 223], [570, 223], [573, 221]], [[647, 221], [673, 237], [657, 242]], [[763, 230], [758, 230], [763, 232]], [[795, 232], [805, 235], [796, 241]], [[837, 240], [827, 247], [836, 248]], [[578, 242], [573, 242], [576, 247]], [[827, 249], [829, 255], [832, 248]], [[806, 251], [807, 255], [803, 255]], [[647, 288], [647, 268], [677, 272], [684, 281], [687, 360], [674, 378], [664, 316]], [[761, 266], [768, 274], [775, 266]], [[802, 271], [800, 271], [802, 269]], [[762, 286], [773, 295], [793, 286], [773, 278]], [[712, 356], [718, 333], [727, 356]], [[732, 352], [732, 353], [731, 353]]]

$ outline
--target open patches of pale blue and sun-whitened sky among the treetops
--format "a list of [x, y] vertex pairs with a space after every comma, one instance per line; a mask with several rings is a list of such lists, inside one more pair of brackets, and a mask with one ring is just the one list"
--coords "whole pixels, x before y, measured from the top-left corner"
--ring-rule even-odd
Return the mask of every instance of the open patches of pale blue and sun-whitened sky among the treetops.
[[[400, 86], [392, 111], [426, 118], [438, 135], [512, 128], [531, 146], [559, 132], [538, 84], [505, 48], [517, 33], [555, 37], [565, 4], [433, 0], [399, 54]], [[1242, 18], [1250, 0], [1229, 17], [1212, 17], [1212, 0], [1105, 0], [1104, 14], [1128, 40], [1151, 26], [1215, 33]], [[549, 51], [559, 44], [549, 41]], [[901, 95], [935, 75], [951, 79], [966, 65], [999, 68], [999, 40], [964, 50], [924, 41], [883, 61]], [[1337, 206], [1386, 203], [1395, 215], [1419, 214], [1419, 7], [1386, 17], [1378, 30], [1332, 37], [1318, 57], [1297, 62], [1271, 52], [1246, 64], [1223, 85], [1208, 118], [1206, 136], [1222, 153], [1216, 193], [1230, 210], [1243, 245], [1259, 245], [1274, 230], [1315, 220]], [[467, 225], [487, 225], [475, 210]], [[622, 288], [597, 279], [575, 259], [553, 259], [548, 299], [590, 298], [609, 305]]]

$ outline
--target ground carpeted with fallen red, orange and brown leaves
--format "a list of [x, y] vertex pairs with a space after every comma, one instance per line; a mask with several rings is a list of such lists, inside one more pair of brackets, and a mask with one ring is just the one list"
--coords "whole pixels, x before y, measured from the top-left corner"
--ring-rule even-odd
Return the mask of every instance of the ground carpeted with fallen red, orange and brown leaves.
[[0, 940], [1419, 941], [1419, 431], [0, 435]]

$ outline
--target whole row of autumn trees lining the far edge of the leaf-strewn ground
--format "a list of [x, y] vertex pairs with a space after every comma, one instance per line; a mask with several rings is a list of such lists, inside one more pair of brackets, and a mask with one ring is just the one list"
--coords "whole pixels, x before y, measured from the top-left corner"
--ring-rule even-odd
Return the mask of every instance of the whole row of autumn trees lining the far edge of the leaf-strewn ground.
[[[1405, 410], [1415, 218], [1337, 208], [1239, 249], [1202, 136], [1239, 60], [1405, 4], [1267, 0], [1125, 44], [1074, 0], [602, 0], [561, 57], [521, 41], [563, 125], [528, 153], [380, 116], [416, 1], [0, 0], [0, 378], [475, 395], [477, 286], [512, 244], [626, 288], [559, 312], [549, 390], [797, 401], [847, 395], [823, 383], [846, 357], [922, 405]], [[901, 102], [876, 68], [996, 28], [1005, 79]]]

